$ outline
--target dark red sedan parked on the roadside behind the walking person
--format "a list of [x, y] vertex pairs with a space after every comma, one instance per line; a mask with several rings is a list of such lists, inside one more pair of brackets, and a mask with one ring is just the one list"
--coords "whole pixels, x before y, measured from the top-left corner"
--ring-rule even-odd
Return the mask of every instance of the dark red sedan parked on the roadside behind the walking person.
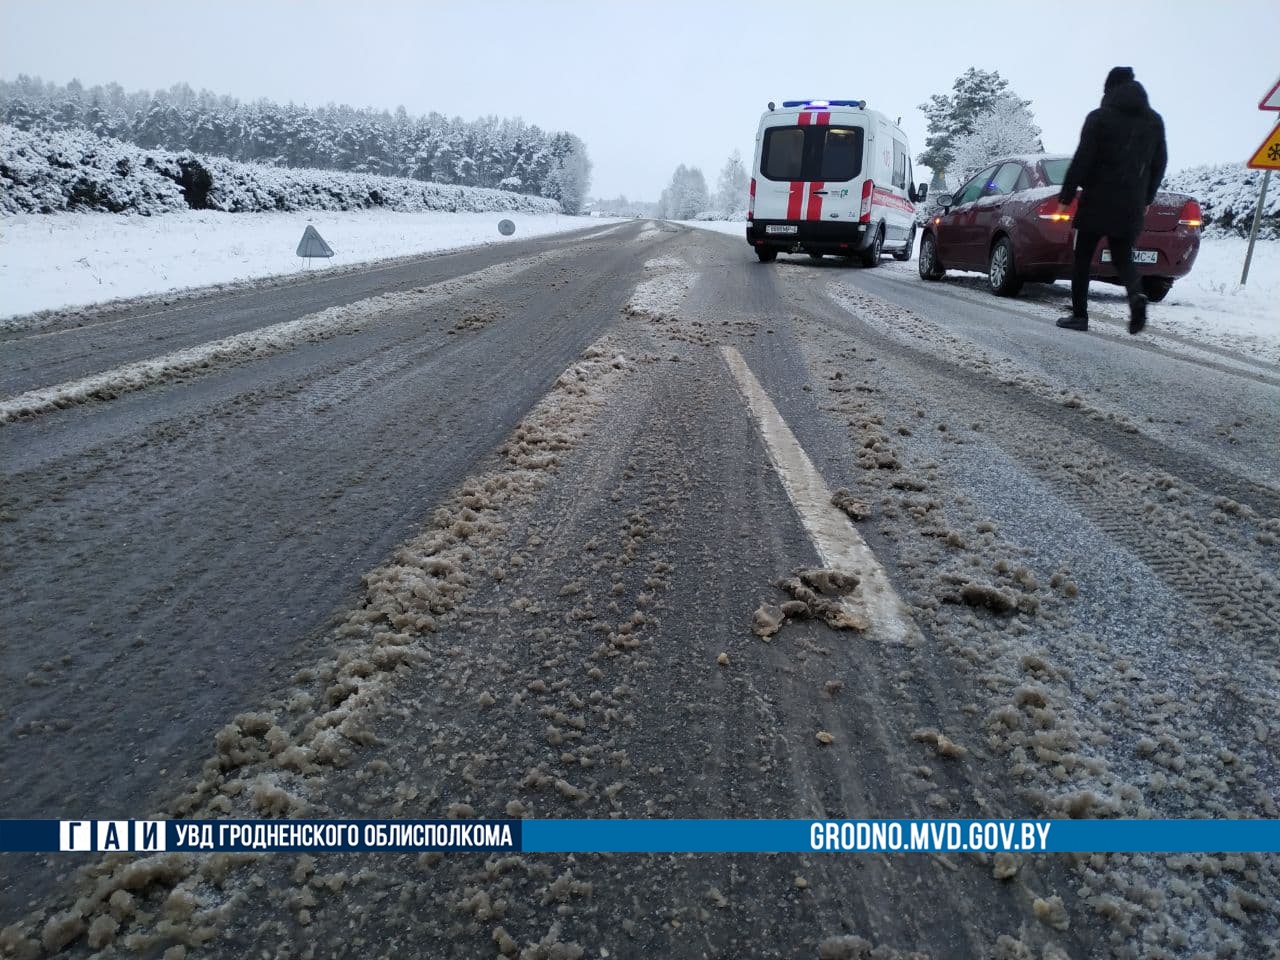
[[[993, 293], [1018, 294], [1027, 280], [1071, 276], [1071, 218], [1075, 204], [1057, 202], [1069, 156], [1036, 154], [997, 160], [955, 195], [938, 197], [942, 211], [924, 224], [919, 266], [925, 280], [946, 270], [987, 274]], [[1183, 193], [1157, 193], [1133, 246], [1134, 266], [1148, 300], [1164, 300], [1199, 252], [1201, 207]], [[1106, 241], [1093, 257], [1092, 276], [1119, 283]]]

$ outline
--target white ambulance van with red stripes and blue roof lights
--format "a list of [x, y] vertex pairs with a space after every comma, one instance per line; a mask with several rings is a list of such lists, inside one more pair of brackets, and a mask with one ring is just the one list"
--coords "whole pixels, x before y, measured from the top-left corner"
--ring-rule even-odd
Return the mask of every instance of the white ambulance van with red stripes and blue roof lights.
[[879, 264], [911, 257], [915, 204], [902, 129], [865, 100], [769, 104], [755, 134], [746, 242], [763, 262], [826, 253]]

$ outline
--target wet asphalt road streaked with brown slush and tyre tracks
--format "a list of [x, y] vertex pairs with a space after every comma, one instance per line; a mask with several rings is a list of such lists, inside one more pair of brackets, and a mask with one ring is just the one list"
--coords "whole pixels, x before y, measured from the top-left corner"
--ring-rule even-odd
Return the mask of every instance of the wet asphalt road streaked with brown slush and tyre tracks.
[[[8, 334], [0, 809], [1280, 815], [1280, 367], [902, 266], [628, 224]], [[1256, 855], [70, 863], [10, 858], [0, 946], [1280, 929]]]

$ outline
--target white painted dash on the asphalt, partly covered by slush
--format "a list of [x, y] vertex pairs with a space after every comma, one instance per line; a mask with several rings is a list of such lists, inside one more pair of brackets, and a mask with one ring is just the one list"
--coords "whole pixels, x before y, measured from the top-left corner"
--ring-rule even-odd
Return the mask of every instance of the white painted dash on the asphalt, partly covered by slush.
[[846, 607], [851, 613], [863, 614], [870, 621], [868, 634], [914, 646], [920, 639], [920, 631], [876, 554], [844, 511], [832, 504], [827, 481], [813, 466], [809, 454], [804, 452], [742, 355], [727, 346], [721, 347], [721, 351], [760, 428], [773, 468], [822, 562], [829, 570], [854, 573], [861, 581], [858, 590], [845, 598]]

